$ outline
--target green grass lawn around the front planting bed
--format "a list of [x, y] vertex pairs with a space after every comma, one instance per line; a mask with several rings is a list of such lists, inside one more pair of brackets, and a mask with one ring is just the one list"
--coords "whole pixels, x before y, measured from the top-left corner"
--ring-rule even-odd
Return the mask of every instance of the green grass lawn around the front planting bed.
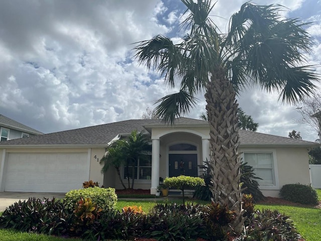
[[[321, 190], [317, 190], [319, 201], [321, 201]], [[171, 202], [182, 203], [182, 200], [170, 200]], [[164, 200], [150, 199], [150, 200], [119, 200], [116, 208], [121, 210], [124, 206], [141, 206], [144, 212], [148, 212], [155, 204], [168, 202]], [[204, 201], [194, 201], [194, 203], [205, 204]], [[290, 206], [290, 205], [273, 205], [273, 204], [257, 204], [256, 209], [271, 209], [278, 210], [291, 217], [299, 233], [305, 238], [306, 241], [319, 241], [321, 240], [321, 209], [308, 207], [308, 206]], [[0, 215], [2, 213], [0, 212]], [[14, 240], [36, 240], [36, 241], [78, 241], [81, 239], [75, 238], [58, 238], [48, 235], [31, 234], [26, 232], [19, 232], [10, 229], [0, 229], [1, 240], [14, 241]]]

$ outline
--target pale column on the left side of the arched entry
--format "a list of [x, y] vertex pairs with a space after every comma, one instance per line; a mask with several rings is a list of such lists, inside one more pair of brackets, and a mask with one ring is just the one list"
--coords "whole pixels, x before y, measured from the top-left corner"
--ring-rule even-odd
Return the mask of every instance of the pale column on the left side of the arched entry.
[[155, 194], [159, 184], [159, 139], [151, 140], [151, 187], [150, 194]]

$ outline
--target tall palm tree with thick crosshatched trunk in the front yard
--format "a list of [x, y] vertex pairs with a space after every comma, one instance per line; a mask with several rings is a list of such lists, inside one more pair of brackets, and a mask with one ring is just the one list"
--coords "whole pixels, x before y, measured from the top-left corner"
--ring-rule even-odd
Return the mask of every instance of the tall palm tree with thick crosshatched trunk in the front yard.
[[295, 103], [313, 92], [318, 76], [313, 66], [300, 66], [311, 41], [305, 24], [280, 17], [278, 5], [243, 4], [231, 17], [228, 33], [221, 34], [209, 18], [214, 7], [210, 0], [182, 2], [188, 16], [181, 26], [188, 34], [178, 44], [162, 35], [136, 43], [135, 57], [148, 69], [159, 71], [166, 84], [175, 87], [180, 82], [178, 93], [156, 101], [156, 114], [167, 123], [174, 124], [175, 117], [188, 113], [196, 103], [196, 93], [205, 91], [211, 191], [214, 201], [236, 211], [231, 225], [241, 231], [236, 93], [257, 84], [268, 92], [279, 91], [282, 102]]

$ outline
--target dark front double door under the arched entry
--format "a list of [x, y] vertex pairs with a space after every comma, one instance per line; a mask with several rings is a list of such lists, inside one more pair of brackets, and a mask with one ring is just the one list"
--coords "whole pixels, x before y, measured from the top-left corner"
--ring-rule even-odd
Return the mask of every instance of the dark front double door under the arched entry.
[[169, 154], [169, 176], [197, 177], [197, 154]]

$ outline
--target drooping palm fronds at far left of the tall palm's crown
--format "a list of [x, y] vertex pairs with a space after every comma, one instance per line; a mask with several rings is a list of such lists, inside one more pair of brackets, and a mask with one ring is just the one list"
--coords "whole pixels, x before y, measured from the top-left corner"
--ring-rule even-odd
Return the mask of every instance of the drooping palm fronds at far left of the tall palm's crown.
[[134, 50], [135, 58], [148, 69], [154, 68], [165, 75], [165, 82], [175, 86], [175, 75], [180, 69], [182, 54], [179, 45], [174, 45], [170, 38], [157, 35], [151, 40], [141, 41]]

